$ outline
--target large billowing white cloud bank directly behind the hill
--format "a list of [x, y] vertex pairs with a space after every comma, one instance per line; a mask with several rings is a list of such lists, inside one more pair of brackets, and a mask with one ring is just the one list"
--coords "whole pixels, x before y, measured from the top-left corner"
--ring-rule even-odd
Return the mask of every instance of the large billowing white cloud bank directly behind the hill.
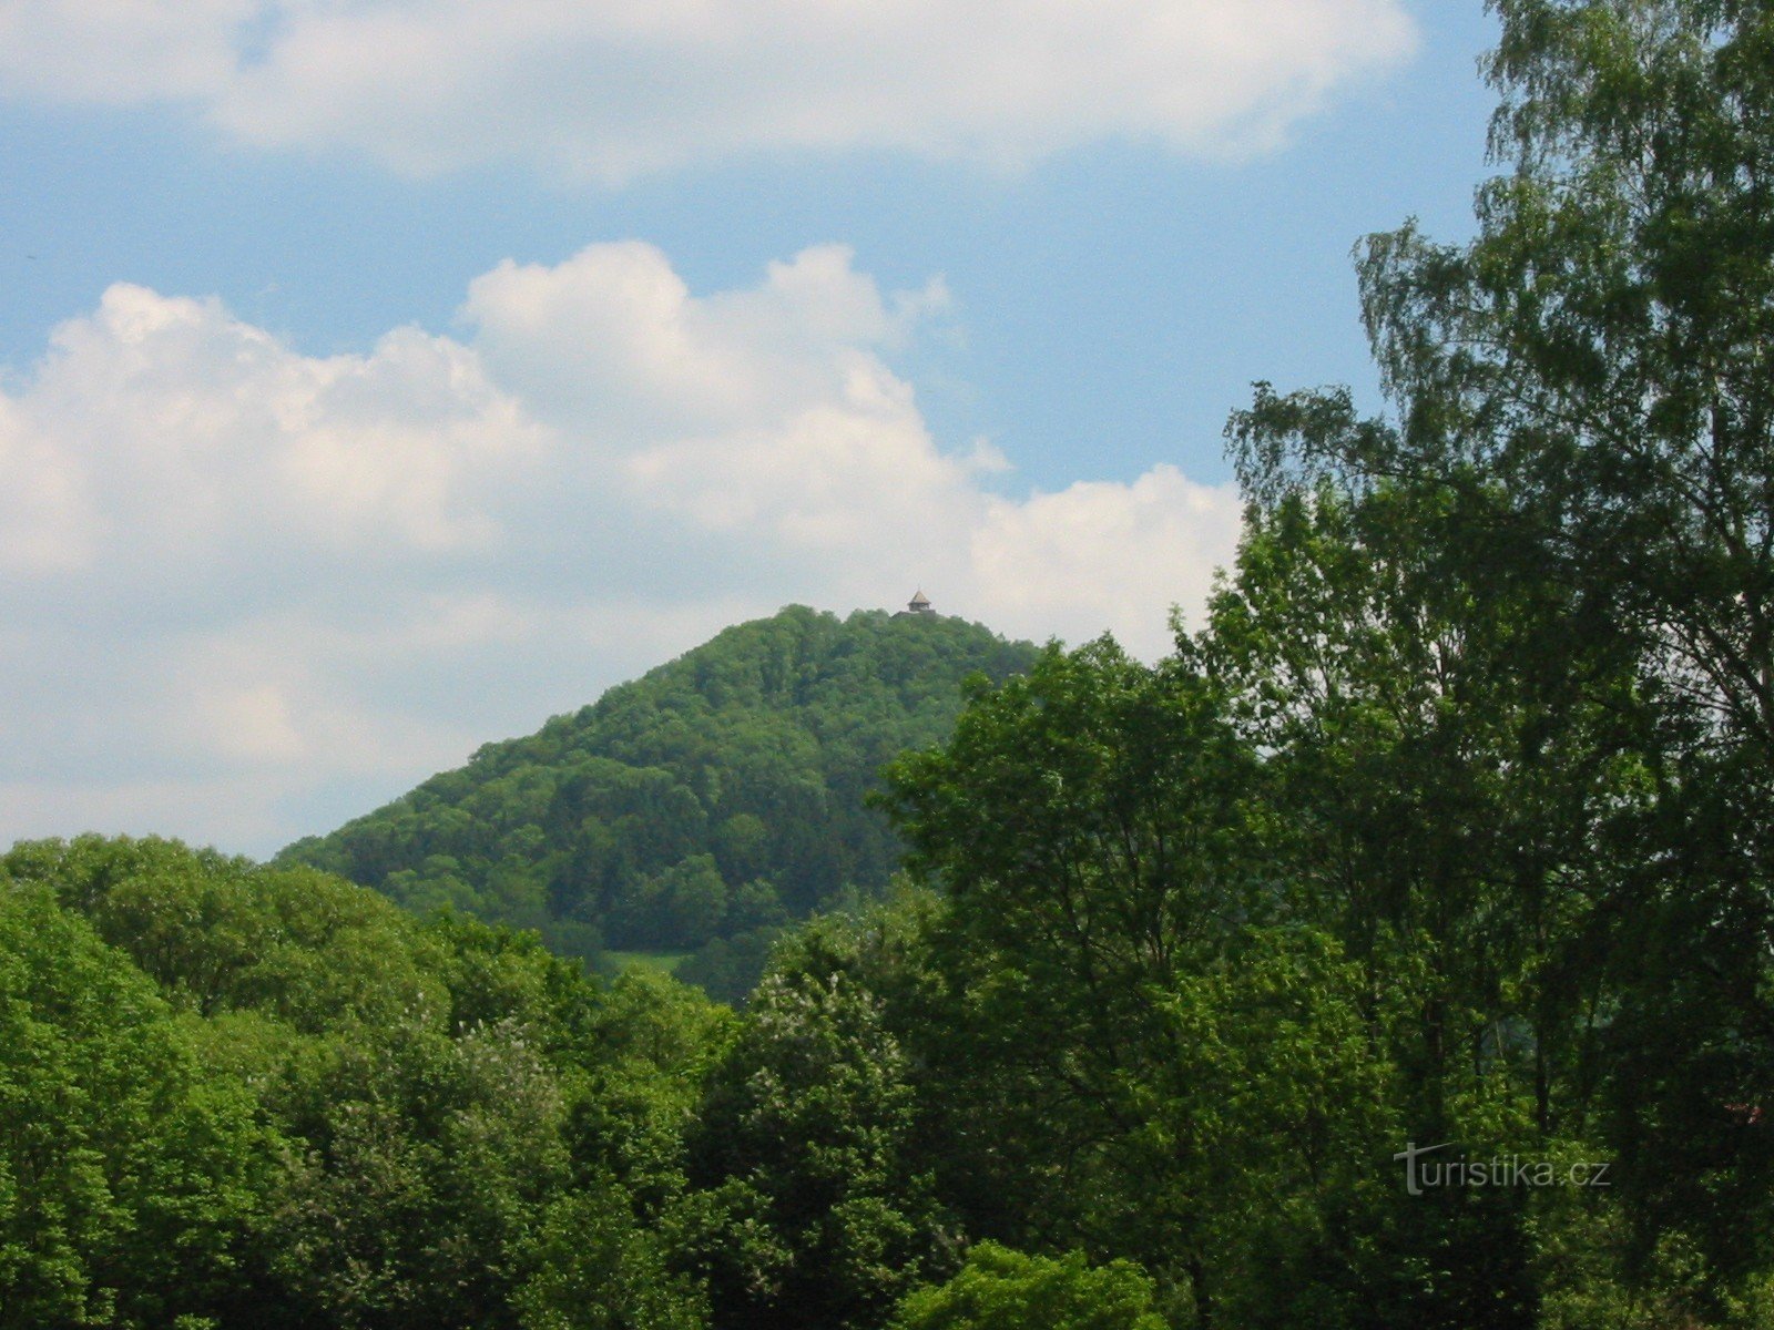
[[944, 301], [841, 246], [695, 294], [594, 245], [472, 282], [459, 335], [307, 356], [112, 287], [0, 392], [0, 839], [268, 851], [789, 601], [922, 583], [1162, 653], [1235, 495], [1167, 465], [1001, 493], [891, 367]]

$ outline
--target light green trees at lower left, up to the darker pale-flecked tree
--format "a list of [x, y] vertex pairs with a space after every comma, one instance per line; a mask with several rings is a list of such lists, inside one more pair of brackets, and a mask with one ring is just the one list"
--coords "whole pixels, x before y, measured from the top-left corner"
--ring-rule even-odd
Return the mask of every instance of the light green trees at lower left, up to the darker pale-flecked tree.
[[0, 1326], [699, 1325], [655, 1234], [727, 1020], [305, 867], [21, 844]]

